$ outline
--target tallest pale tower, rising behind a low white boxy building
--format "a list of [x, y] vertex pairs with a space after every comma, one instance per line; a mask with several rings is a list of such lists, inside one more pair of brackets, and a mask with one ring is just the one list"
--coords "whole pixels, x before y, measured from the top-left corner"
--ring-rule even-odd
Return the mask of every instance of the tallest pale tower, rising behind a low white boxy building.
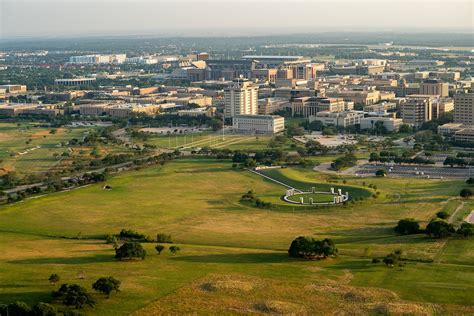
[[234, 79], [232, 84], [224, 90], [224, 94], [226, 118], [258, 114], [258, 87], [247, 79]]

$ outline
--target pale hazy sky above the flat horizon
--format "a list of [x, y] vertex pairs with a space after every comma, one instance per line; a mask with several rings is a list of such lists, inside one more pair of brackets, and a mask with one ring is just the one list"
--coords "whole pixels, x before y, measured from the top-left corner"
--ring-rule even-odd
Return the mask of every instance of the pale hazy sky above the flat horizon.
[[0, 37], [474, 30], [473, 0], [0, 0]]

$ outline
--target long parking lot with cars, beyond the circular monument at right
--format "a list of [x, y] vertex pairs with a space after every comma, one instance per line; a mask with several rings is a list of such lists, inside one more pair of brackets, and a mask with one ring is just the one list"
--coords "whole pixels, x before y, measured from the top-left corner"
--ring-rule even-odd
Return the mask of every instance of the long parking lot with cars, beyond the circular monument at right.
[[361, 177], [374, 176], [380, 169], [387, 170], [387, 176], [395, 178], [468, 179], [474, 176], [474, 168], [385, 164], [365, 164], [357, 169], [355, 174]]

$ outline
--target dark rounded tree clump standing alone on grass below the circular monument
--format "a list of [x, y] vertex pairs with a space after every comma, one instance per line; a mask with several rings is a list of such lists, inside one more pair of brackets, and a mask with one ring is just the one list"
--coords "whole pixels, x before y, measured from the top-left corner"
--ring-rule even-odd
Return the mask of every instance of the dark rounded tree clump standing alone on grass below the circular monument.
[[316, 240], [300, 236], [291, 242], [288, 255], [292, 258], [320, 259], [335, 256], [337, 248], [331, 239]]

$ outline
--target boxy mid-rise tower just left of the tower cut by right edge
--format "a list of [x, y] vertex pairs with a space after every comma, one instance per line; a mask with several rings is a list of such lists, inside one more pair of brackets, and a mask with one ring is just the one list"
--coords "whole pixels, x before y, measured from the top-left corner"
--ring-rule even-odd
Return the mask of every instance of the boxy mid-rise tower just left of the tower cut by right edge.
[[432, 119], [432, 102], [429, 96], [410, 96], [401, 104], [403, 123], [420, 127]]

